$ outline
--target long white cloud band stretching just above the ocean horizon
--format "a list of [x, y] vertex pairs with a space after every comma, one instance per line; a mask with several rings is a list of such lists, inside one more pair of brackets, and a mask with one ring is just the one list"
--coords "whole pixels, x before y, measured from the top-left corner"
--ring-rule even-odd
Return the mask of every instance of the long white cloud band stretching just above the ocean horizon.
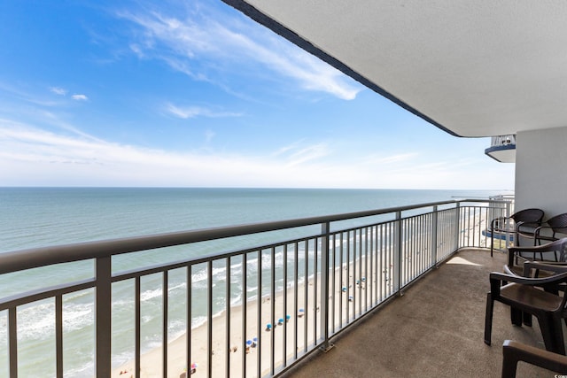
[[270, 156], [169, 152], [0, 120], [0, 172], [3, 185], [9, 186], [513, 187], [513, 166], [488, 159], [479, 164], [393, 154], [334, 161], [334, 155], [326, 143], [304, 142]]

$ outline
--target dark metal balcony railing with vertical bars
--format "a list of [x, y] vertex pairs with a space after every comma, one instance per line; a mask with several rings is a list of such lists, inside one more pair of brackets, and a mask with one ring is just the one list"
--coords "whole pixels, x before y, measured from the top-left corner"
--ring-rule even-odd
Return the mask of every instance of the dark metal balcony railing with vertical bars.
[[[92, 345], [81, 376], [140, 377], [151, 369], [163, 377], [282, 374], [310, 352], [331, 348], [333, 336], [455, 251], [490, 247], [486, 225], [509, 215], [512, 205], [509, 199], [447, 201], [0, 254], [0, 278], [59, 264], [93, 272], [49, 288], [40, 282], [3, 289], [0, 359], [8, 363], [4, 371], [0, 364], [0, 377], [31, 376], [38, 368], [45, 376], [73, 375], [75, 351], [66, 347], [72, 337]], [[207, 252], [176, 260], [180, 248]], [[141, 254], [159, 263], [136, 266]], [[128, 266], [123, 256], [130, 257]], [[117, 300], [124, 292], [131, 300]], [[146, 322], [147, 293], [157, 300], [152, 322]], [[92, 312], [82, 331], [64, 321], [77, 297]], [[53, 345], [52, 358], [28, 366], [22, 345], [33, 345], [35, 336], [21, 332], [19, 314], [40, 306], [51, 313], [42, 342]], [[180, 321], [184, 335], [178, 337], [171, 328]], [[146, 353], [148, 335], [160, 344], [153, 357]], [[131, 343], [119, 350], [118, 337]], [[128, 369], [113, 366], [117, 353], [129, 356]]]

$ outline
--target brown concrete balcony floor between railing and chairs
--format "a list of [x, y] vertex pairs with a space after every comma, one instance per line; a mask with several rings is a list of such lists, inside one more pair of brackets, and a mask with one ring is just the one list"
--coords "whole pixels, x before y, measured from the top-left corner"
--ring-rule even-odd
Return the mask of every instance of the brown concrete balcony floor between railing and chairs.
[[[286, 376], [293, 377], [499, 377], [506, 339], [544, 349], [533, 327], [510, 323], [509, 307], [494, 305], [492, 346], [483, 342], [489, 272], [501, 272], [505, 255], [460, 251], [316, 351]], [[553, 377], [548, 370], [518, 365], [517, 377]]]

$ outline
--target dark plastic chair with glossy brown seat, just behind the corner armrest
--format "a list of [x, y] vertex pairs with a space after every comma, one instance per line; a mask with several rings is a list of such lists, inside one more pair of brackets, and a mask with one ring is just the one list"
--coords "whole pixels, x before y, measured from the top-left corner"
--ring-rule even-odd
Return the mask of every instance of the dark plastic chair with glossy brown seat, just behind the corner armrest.
[[[523, 314], [535, 316], [541, 329], [546, 350], [565, 354], [562, 319], [567, 315], [567, 296], [553, 292], [567, 282], [567, 266], [526, 262], [527, 269], [553, 271], [557, 274], [545, 278], [526, 278], [515, 274], [490, 274], [490, 292], [486, 296], [485, 343], [490, 345], [493, 328], [494, 301], [510, 306], [512, 324], [522, 326]], [[502, 286], [503, 283], [506, 283]], [[548, 289], [548, 291], [544, 289]]]

